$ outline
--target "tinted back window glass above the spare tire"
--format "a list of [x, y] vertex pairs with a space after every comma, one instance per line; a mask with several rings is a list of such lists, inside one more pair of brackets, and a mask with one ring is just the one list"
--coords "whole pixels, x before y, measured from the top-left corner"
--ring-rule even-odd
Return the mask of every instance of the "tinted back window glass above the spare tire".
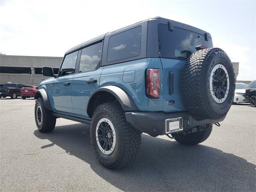
[[204, 35], [174, 27], [173, 31], [168, 30], [168, 25], [158, 25], [158, 46], [159, 55], [163, 58], [187, 59], [196, 51], [196, 46], [212, 46], [212, 40], [204, 40]]

